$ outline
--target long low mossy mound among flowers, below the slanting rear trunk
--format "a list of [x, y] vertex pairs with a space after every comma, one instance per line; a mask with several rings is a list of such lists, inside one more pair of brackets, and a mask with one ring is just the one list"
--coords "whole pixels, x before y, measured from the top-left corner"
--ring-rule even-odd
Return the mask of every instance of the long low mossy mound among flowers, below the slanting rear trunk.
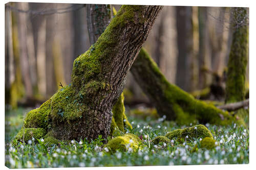
[[205, 138], [205, 137], [209, 137], [213, 139], [210, 131], [203, 125], [196, 125], [190, 128], [177, 129], [167, 133], [165, 136], [170, 140], [173, 138], [193, 139], [193, 138]]

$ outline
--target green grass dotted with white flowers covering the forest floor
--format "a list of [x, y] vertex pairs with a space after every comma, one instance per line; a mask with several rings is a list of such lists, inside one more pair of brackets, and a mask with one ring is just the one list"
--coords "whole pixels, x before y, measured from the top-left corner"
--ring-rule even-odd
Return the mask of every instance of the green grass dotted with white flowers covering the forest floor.
[[[89, 143], [87, 140], [61, 143], [59, 146], [48, 146], [47, 143], [31, 140], [31, 144], [18, 143], [16, 147], [10, 144], [12, 138], [22, 127], [25, 109], [6, 112], [5, 124], [5, 163], [10, 168], [29, 167], [79, 167], [79, 166], [135, 166], [135, 165], [186, 165], [186, 164], [242, 164], [249, 163], [249, 129], [237, 125], [220, 127], [206, 125], [218, 146], [212, 150], [199, 147], [198, 152], [192, 153], [196, 143], [179, 143], [172, 140], [170, 143], [154, 145], [150, 140], [158, 135], [185, 128], [175, 123], [167, 122], [164, 118], [145, 120], [130, 116], [133, 130], [129, 133], [143, 136], [144, 147], [138, 151], [110, 153], [104, 149], [99, 137]], [[193, 126], [191, 124], [191, 126]], [[80, 142], [80, 143], [79, 143]], [[106, 152], [108, 151], [108, 152]]]

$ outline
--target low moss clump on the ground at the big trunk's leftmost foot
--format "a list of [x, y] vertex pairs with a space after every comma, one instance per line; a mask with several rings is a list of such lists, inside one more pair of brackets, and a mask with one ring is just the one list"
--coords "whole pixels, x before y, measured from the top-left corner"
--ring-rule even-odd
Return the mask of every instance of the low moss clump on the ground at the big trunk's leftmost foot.
[[15, 136], [15, 139], [23, 141], [24, 136], [24, 141], [28, 142], [28, 140], [32, 140], [32, 137], [34, 137], [35, 139], [40, 139], [44, 137], [46, 133], [47, 131], [43, 128], [22, 128]]

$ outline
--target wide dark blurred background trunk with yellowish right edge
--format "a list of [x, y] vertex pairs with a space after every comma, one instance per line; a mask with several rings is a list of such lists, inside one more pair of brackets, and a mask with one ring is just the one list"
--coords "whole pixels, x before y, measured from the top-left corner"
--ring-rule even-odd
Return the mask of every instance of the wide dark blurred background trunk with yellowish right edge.
[[186, 91], [197, 86], [198, 19], [196, 7], [176, 7], [178, 62], [176, 84]]

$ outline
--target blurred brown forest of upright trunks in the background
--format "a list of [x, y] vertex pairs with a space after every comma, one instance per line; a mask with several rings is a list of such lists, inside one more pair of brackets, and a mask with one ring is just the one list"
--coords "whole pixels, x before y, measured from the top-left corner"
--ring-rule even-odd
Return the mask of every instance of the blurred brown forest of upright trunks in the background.
[[[231, 11], [164, 6], [144, 48], [170, 83], [198, 99], [224, 101]], [[6, 109], [40, 106], [69, 85], [74, 59], [90, 46], [84, 4], [6, 4]], [[249, 64], [246, 77], [249, 89]], [[123, 92], [126, 106], [152, 107], [131, 73]]]

